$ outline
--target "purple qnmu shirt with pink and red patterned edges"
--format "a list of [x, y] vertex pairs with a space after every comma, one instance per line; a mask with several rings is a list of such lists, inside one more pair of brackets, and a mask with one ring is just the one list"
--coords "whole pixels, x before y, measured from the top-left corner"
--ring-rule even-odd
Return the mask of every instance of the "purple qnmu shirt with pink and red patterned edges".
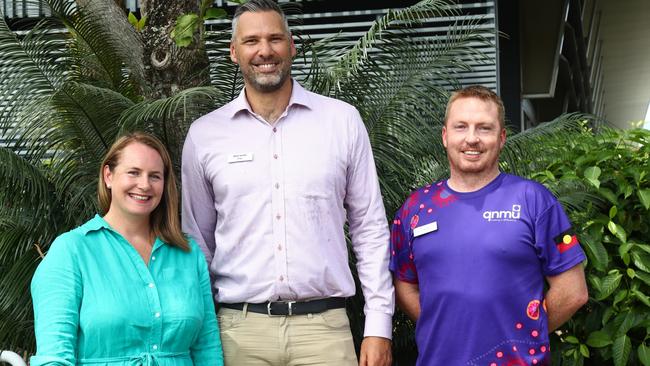
[[584, 259], [539, 183], [501, 173], [475, 192], [418, 189], [393, 220], [390, 263], [419, 286], [417, 364], [548, 364], [544, 279]]

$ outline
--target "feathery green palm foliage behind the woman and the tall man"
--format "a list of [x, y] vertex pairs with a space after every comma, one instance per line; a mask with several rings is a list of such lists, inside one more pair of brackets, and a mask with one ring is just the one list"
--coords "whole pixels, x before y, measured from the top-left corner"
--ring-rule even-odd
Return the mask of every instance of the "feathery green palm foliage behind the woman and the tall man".
[[[32, 273], [58, 234], [96, 212], [99, 163], [111, 142], [123, 131], [144, 129], [160, 136], [178, 161], [189, 123], [241, 86], [221, 51], [227, 29], [191, 43], [200, 53], [205, 40], [216, 53], [209, 70], [191, 75], [206, 78], [193, 85], [210, 86], [179, 88], [162, 85], [143, 56], [153, 17], [137, 22], [140, 34], [111, 2], [47, 3], [53, 17], [25, 33], [0, 20], [0, 135], [14, 141], [0, 148], [0, 348], [27, 352], [34, 350]], [[462, 31], [452, 25], [444, 41], [409, 37], [409, 24], [453, 15], [452, 4], [424, 0], [391, 11], [348, 46], [340, 37], [299, 42], [302, 67], [294, 76], [357, 106], [364, 117], [388, 212], [422, 179], [423, 168], [437, 169], [444, 160], [439, 144], [431, 143], [439, 135], [444, 86], [455, 85], [455, 72], [481, 58], [472, 45], [485, 40], [471, 24]], [[351, 310], [355, 324], [360, 305]]]

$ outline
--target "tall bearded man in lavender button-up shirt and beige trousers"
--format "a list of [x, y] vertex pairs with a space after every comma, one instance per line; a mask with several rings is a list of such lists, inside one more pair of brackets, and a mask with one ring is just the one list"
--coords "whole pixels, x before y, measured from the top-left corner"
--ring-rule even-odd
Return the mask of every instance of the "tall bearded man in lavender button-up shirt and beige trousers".
[[[238, 98], [195, 121], [183, 149], [183, 228], [209, 262], [226, 365], [391, 363], [389, 232], [358, 111], [290, 77], [296, 50], [273, 1], [233, 19]], [[365, 305], [357, 360], [345, 298]]]

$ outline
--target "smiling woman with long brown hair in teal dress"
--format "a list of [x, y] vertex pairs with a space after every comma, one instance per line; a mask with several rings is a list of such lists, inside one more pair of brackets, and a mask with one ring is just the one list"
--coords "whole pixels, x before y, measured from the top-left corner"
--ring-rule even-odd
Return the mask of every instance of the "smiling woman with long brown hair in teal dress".
[[31, 365], [223, 365], [207, 264], [181, 232], [164, 145], [118, 139], [98, 198], [102, 216], [59, 236], [34, 274]]

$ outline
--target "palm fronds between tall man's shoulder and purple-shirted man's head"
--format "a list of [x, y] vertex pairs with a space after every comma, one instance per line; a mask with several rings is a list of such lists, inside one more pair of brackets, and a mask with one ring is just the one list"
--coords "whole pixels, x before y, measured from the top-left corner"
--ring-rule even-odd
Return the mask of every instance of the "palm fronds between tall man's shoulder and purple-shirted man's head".
[[447, 90], [458, 86], [459, 72], [486, 62], [475, 51], [487, 41], [474, 23], [451, 27], [444, 40], [409, 35], [386, 31], [378, 52], [334, 90], [366, 123], [389, 212], [423, 180], [425, 166], [446, 166], [439, 126]]

